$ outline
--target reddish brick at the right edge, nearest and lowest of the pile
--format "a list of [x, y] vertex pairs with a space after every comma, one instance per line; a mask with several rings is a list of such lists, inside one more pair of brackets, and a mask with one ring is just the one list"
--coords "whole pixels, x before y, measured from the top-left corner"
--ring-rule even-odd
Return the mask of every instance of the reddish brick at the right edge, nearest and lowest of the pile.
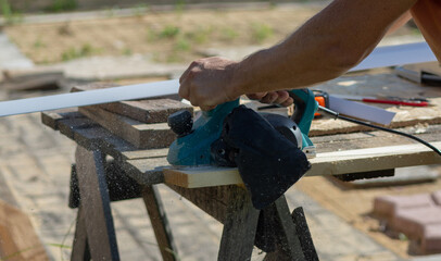
[[423, 238], [427, 225], [441, 225], [441, 208], [412, 208], [399, 210], [390, 226], [411, 239]]

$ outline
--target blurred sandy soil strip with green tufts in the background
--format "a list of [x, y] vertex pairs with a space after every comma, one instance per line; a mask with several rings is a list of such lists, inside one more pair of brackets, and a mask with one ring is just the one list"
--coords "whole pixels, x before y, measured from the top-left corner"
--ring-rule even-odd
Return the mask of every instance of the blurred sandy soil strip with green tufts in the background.
[[[201, 50], [269, 46], [288, 36], [323, 4], [292, 4], [259, 10], [188, 10], [137, 13], [47, 24], [15, 24], [9, 37], [35, 63], [90, 55], [149, 53], [158, 62], [190, 62]], [[395, 35], [415, 34], [404, 27]]]

